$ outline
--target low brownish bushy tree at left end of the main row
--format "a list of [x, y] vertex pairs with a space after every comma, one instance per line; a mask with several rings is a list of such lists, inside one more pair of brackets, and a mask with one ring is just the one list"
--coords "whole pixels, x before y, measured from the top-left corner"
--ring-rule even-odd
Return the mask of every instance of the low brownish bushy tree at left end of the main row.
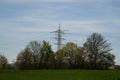
[[18, 69], [33, 69], [33, 56], [27, 49], [18, 54], [16, 66]]

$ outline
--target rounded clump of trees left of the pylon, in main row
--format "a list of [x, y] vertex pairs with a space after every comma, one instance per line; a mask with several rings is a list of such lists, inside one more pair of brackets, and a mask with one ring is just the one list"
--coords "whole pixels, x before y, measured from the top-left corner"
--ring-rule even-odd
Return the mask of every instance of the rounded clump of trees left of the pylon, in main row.
[[16, 64], [20, 69], [48, 68], [52, 56], [53, 51], [48, 42], [31, 41], [25, 50], [18, 54]]

